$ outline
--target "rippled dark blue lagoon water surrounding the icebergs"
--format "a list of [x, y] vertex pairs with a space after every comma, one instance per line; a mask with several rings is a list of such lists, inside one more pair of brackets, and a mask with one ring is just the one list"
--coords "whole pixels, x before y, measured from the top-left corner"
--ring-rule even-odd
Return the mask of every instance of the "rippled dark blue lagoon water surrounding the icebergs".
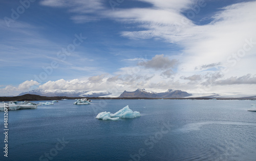
[[[1, 152], [0, 160], [256, 160], [256, 112], [247, 111], [255, 101], [73, 102], [9, 111], [8, 158]], [[141, 117], [95, 118], [126, 105]], [[2, 111], [2, 149], [3, 120]]]

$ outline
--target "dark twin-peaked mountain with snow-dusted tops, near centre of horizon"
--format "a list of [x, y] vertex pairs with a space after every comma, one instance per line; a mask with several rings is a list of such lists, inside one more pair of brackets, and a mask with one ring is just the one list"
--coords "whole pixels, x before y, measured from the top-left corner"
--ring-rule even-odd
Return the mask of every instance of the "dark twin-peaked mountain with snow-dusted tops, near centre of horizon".
[[137, 89], [133, 92], [124, 91], [119, 97], [143, 97], [143, 98], [182, 98], [191, 96], [184, 91], [169, 89], [166, 92], [156, 93], [145, 89]]

